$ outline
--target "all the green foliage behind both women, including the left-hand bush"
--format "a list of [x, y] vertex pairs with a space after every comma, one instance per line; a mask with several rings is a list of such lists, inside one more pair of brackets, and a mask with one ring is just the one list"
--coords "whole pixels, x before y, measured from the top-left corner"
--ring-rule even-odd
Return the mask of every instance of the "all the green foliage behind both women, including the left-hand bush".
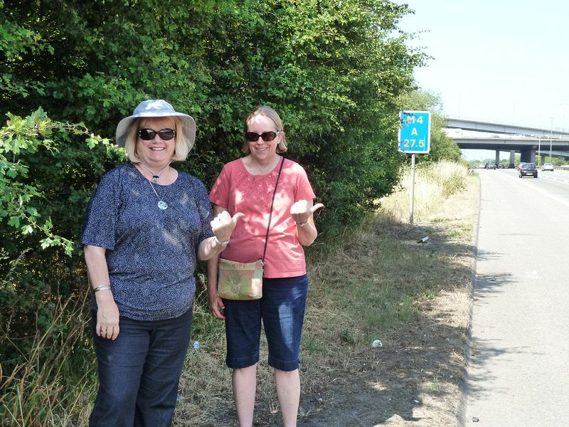
[[74, 244], [85, 204], [124, 161], [110, 144], [117, 122], [145, 99], [196, 119], [195, 148], [178, 167], [206, 186], [240, 154], [248, 112], [275, 107], [287, 157], [326, 206], [319, 229], [334, 236], [357, 223], [405, 162], [398, 111], [423, 60], [398, 29], [406, 13], [387, 0], [0, 0], [9, 120], [0, 132], [0, 309], [13, 320], [2, 332], [25, 336], [39, 305], [84, 283]]

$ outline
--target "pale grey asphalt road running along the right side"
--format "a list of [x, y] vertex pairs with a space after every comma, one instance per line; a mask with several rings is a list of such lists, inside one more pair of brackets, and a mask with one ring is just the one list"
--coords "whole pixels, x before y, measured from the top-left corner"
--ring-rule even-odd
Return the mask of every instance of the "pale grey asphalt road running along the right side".
[[477, 172], [464, 426], [569, 426], [569, 172]]

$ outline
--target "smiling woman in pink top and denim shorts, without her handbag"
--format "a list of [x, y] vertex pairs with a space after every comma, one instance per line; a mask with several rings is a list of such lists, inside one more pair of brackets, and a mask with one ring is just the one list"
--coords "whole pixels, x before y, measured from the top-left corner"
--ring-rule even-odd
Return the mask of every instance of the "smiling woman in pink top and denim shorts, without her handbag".
[[[217, 294], [218, 260], [208, 264], [208, 295], [213, 315], [225, 319], [228, 367], [233, 369], [233, 399], [240, 427], [250, 427], [261, 321], [275, 369], [277, 396], [285, 427], [297, 425], [300, 399], [299, 349], [308, 279], [303, 246], [317, 238], [316, 197], [304, 169], [279, 153], [287, 151], [285, 131], [275, 110], [259, 107], [245, 120], [245, 157], [225, 164], [210, 192], [215, 215], [228, 211], [239, 218], [223, 258], [251, 263], [265, 248], [272, 195], [265, 273], [260, 300], [226, 300]], [[241, 215], [243, 214], [243, 215]], [[225, 243], [225, 242], [224, 242]]]

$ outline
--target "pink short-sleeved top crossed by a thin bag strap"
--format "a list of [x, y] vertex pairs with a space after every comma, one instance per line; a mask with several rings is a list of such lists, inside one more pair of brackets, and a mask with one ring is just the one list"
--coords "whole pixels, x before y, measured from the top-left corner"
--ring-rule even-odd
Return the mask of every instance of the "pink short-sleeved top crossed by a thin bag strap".
[[[252, 175], [242, 159], [225, 164], [209, 198], [213, 204], [226, 208], [231, 214], [242, 212], [230, 242], [221, 258], [240, 263], [252, 263], [262, 258], [267, 223], [280, 162], [268, 174]], [[304, 275], [304, 249], [298, 241], [297, 226], [290, 215], [295, 201], [312, 200], [316, 196], [302, 166], [285, 159], [282, 166], [265, 255], [265, 278], [285, 278]]]

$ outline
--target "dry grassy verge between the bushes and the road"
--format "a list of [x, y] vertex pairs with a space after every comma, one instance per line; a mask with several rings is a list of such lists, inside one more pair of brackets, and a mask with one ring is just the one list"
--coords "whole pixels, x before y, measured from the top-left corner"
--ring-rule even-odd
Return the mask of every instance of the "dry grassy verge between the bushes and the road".
[[[438, 164], [418, 171], [416, 181], [415, 223], [408, 223], [403, 185], [361, 228], [346, 230], [333, 251], [318, 245], [309, 251], [299, 425], [454, 421], [469, 320], [477, 180], [467, 178], [466, 168]], [[425, 245], [416, 243], [425, 235]], [[371, 347], [376, 339], [383, 347]], [[280, 426], [264, 344], [255, 426]], [[191, 352], [176, 426], [237, 426], [224, 347], [222, 336]], [[370, 418], [353, 420], [354, 413]]]

